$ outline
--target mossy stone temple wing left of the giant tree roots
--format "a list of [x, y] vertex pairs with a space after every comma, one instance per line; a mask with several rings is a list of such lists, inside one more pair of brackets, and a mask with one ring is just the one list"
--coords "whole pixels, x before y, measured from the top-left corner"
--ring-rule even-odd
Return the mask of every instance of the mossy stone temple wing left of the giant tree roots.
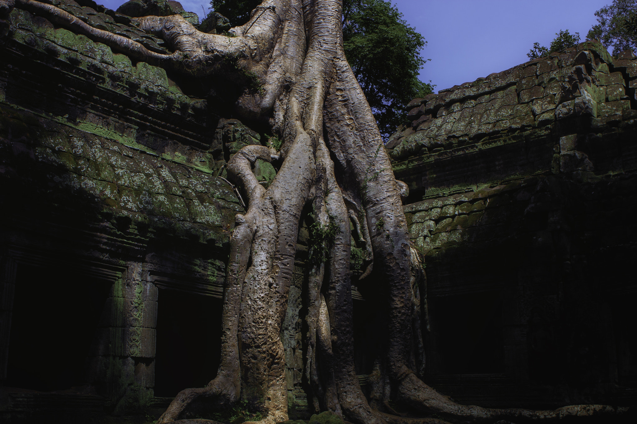
[[[140, 37], [123, 15], [62, 3], [80, 18]], [[66, 411], [64, 422], [86, 422], [104, 411], [165, 406], [153, 393], [162, 298], [175, 290], [222, 296], [229, 234], [243, 205], [219, 175], [224, 155], [260, 135], [220, 120], [159, 67], [133, 63], [22, 10], [3, 25], [0, 380], [11, 363], [11, 312], [25, 302], [13, 296], [21, 271], [62, 266], [85, 275], [85, 286], [62, 286], [50, 299], [62, 308], [83, 311], [83, 287], [108, 289], [90, 349], [66, 352], [80, 369], [88, 364], [89, 388], [57, 395], [3, 390], [1, 414], [21, 422]], [[162, 43], [141, 35], [147, 44]], [[268, 181], [270, 171], [260, 177]], [[60, 279], [52, 275], [51, 282]], [[60, 331], [72, 332], [68, 324]]]

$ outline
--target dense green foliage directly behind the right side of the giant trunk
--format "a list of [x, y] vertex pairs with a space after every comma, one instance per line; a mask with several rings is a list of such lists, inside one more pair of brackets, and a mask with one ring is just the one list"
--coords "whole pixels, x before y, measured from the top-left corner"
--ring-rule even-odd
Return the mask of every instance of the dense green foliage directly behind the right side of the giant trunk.
[[427, 41], [390, 1], [343, 0], [345, 55], [387, 139], [405, 122], [404, 107], [433, 92], [418, 78]]

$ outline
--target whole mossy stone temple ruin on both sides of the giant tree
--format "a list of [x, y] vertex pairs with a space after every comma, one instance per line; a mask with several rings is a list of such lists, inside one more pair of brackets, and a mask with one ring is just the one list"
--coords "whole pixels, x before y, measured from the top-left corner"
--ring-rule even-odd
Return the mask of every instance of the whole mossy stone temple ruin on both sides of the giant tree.
[[[124, 13], [43, 1], [166, 51]], [[234, 118], [224, 81], [201, 90], [20, 8], [0, 20], [0, 58], [0, 421], [156, 419], [216, 373], [245, 207], [225, 163], [264, 129]], [[410, 103], [385, 147], [426, 257], [427, 384], [489, 407], [636, 403], [636, 86], [631, 52], [587, 41]], [[283, 338], [293, 419], [313, 413], [307, 238]], [[363, 389], [376, 293], [353, 292]]]

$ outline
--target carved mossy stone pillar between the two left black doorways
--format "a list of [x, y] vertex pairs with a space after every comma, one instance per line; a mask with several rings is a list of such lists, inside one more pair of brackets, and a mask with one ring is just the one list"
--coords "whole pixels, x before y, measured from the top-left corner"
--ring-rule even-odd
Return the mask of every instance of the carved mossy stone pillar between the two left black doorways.
[[157, 287], [129, 263], [104, 305], [89, 376], [113, 414], [143, 411], [153, 397], [156, 324]]

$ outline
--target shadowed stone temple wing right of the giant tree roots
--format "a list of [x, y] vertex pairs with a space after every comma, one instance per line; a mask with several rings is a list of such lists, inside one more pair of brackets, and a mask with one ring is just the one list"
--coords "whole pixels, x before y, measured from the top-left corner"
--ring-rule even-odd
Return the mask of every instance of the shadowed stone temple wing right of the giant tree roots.
[[632, 53], [587, 42], [410, 103], [386, 147], [411, 191], [441, 392], [636, 399], [636, 84]]

